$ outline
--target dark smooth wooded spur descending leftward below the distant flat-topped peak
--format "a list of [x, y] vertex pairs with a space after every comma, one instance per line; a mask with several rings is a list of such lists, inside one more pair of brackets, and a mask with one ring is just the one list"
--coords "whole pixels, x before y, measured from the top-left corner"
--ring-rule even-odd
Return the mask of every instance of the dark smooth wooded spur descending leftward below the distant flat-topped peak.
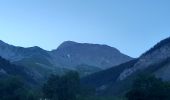
[[95, 88], [99, 88], [104, 85], [109, 85], [110, 83], [117, 80], [117, 77], [124, 69], [132, 67], [136, 62], [137, 59], [131, 60], [129, 62], [114, 66], [112, 68], [100, 72], [96, 72], [94, 74], [82, 78], [82, 83], [85, 83], [86, 85], [92, 85], [93, 87], [95, 86]]

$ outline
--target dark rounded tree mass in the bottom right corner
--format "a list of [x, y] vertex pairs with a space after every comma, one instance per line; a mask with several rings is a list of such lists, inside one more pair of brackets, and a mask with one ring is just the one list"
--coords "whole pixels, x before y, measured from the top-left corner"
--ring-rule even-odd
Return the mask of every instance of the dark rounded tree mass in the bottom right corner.
[[152, 75], [140, 75], [126, 97], [128, 100], [170, 100], [170, 84]]

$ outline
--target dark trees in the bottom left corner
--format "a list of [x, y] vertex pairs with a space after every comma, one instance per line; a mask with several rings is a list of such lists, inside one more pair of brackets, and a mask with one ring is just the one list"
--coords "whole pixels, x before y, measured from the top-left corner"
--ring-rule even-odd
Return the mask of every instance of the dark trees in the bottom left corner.
[[0, 79], [0, 100], [35, 100], [30, 98], [33, 95], [28, 95], [28, 91], [19, 77], [8, 76]]

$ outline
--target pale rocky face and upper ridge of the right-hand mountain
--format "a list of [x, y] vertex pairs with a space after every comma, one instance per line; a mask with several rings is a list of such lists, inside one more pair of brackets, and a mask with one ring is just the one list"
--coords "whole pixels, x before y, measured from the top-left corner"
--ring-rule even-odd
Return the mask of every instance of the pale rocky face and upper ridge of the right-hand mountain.
[[[156, 44], [153, 48], [148, 50], [146, 53], [142, 54], [139, 57], [138, 62], [136, 62], [132, 68], [126, 69], [120, 74], [119, 79], [123, 80], [127, 76], [133, 74], [138, 70], [144, 70], [146, 68], [153, 67], [155, 65], [160, 65], [161, 63], [164, 62], [167, 62], [168, 64], [167, 60], [169, 58], [170, 58], [170, 38], [167, 38], [165, 40], [162, 40], [158, 44]], [[162, 64], [161, 68], [164, 68], [165, 65], [166, 64]]]

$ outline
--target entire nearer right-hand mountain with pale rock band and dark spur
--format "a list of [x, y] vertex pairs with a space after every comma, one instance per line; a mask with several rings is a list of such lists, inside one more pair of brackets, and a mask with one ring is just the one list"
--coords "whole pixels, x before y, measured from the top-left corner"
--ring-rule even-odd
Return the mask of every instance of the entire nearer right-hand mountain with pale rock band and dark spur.
[[86, 76], [81, 81], [95, 87], [100, 95], [121, 95], [140, 73], [170, 81], [170, 38], [160, 41], [135, 60]]

